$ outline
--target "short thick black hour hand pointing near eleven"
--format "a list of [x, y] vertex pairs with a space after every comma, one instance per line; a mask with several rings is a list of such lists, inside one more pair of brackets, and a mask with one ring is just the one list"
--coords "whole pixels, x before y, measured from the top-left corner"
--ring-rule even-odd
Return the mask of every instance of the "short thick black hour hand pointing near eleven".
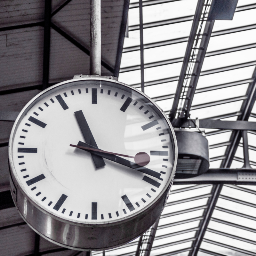
[[[83, 111], [82, 110], [76, 111], [75, 116], [76, 116], [76, 120], [80, 126], [81, 132], [84, 135], [84, 140], [86, 141], [86, 143], [98, 148], [96, 141], [94, 140], [94, 137], [92, 135], [91, 129], [84, 117]], [[96, 168], [106, 165], [101, 156], [97, 156], [95, 154], [91, 154], [91, 155], [92, 155], [92, 160], [93, 160]]]

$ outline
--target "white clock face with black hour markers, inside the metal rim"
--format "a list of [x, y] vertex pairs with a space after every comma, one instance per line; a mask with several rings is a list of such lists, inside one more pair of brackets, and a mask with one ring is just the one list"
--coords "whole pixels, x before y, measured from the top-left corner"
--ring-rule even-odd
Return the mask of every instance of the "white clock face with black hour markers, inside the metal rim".
[[[70, 144], [133, 157], [145, 152], [150, 160], [141, 166]], [[45, 211], [103, 223], [154, 203], [174, 175], [174, 145], [169, 124], [145, 96], [118, 83], [79, 80], [52, 88], [24, 110], [12, 161], [20, 187]]]

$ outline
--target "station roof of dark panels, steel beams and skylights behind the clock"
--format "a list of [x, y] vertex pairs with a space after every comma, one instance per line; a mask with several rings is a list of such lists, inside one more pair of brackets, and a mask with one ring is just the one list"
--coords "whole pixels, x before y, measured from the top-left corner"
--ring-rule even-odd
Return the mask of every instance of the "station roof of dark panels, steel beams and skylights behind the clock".
[[[0, 2], [0, 255], [86, 255], [39, 239], [9, 191], [17, 113], [42, 89], [89, 74], [89, 2], [47, 2]], [[145, 92], [174, 127], [204, 132], [210, 170], [174, 180], [141, 237], [92, 255], [256, 256], [256, 0], [238, 0], [230, 20], [210, 20], [216, 2], [101, 1], [102, 75]]]

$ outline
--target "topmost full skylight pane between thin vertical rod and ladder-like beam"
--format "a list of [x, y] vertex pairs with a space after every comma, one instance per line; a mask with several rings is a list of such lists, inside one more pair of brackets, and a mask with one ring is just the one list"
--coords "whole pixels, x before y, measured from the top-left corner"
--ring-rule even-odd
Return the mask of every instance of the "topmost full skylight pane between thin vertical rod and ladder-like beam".
[[143, 23], [194, 15], [197, 0], [183, 0], [143, 7]]

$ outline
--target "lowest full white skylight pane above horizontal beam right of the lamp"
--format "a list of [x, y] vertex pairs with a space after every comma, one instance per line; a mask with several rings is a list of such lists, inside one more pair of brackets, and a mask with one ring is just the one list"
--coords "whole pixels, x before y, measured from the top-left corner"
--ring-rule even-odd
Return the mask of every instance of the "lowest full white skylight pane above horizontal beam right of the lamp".
[[243, 100], [219, 104], [216, 106], [211, 106], [208, 108], [199, 108], [195, 110], [191, 110], [189, 113], [191, 114], [190, 117], [195, 119], [196, 117], [200, 117], [200, 119], [204, 118], [211, 118], [212, 116], [218, 115], [225, 115], [228, 113], [238, 112], [241, 108]]

